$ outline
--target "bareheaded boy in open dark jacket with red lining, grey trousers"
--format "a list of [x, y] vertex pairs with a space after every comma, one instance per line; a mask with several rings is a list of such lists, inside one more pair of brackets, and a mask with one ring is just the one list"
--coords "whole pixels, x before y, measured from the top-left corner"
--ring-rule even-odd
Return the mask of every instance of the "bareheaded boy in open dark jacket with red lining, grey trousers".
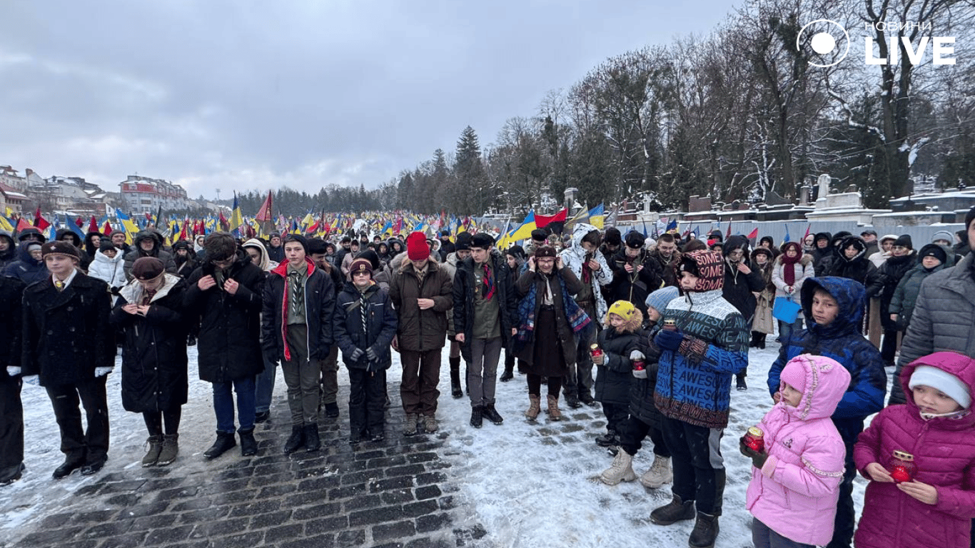
[[285, 261], [264, 285], [261, 345], [264, 357], [281, 362], [292, 411], [292, 435], [285, 453], [321, 449], [318, 433], [320, 362], [329, 357], [335, 289], [331, 277], [307, 256], [303, 236], [285, 237]]

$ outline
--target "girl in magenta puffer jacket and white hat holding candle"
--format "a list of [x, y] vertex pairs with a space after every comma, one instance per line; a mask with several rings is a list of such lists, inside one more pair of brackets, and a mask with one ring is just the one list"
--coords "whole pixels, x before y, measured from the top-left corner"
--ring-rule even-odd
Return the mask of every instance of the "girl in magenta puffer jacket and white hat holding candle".
[[[857, 548], [967, 547], [975, 518], [975, 360], [935, 352], [905, 366], [900, 378], [907, 404], [881, 410], [853, 450], [857, 469], [870, 480], [854, 542]], [[891, 473], [895, 450], [913, 457], [912, 481], [901, 470]]]

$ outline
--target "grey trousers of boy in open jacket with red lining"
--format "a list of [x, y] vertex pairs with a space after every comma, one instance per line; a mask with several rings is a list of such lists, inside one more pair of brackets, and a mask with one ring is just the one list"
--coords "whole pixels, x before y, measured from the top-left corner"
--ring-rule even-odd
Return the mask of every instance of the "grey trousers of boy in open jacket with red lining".
[[308, 327], [288, 326], [288, 347], [291, 361], [281, 361], [281, 372], [288, 385], [288, 407], [292, 411], [292, 426], [318, 422], [318, 387], [322, 367], [318, 360], [308, 360]]

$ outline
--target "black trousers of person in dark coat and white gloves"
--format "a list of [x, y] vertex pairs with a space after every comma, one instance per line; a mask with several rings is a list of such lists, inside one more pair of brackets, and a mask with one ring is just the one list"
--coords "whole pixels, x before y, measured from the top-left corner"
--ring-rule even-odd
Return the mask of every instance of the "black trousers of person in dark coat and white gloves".
[[[67, 458], [96, 464], [108, 456], [108, 403], [106, 376], [74, 384], [45, 386], [60, 429], [60, 450]], [[85, 406], [88, 429], [81, 426], [79, 401]]]

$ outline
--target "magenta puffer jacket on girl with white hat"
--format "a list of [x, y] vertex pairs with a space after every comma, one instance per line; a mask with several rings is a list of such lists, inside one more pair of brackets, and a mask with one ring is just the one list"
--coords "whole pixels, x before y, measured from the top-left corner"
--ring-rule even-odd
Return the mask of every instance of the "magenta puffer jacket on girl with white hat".
[[[895, 484], [871, 482], [856, 535], [857, 548], [967, 548], [975, 518], [975, 413], [924, 420], [908, 381], [917, 366], [934, 366], [975, 387], [975, 360], [955, 352], [917, 358], [901, 372], [907, 404], [890, 406], [874, 417], [853, 450], [857, 469], [867, 479], [871, 462], [890, 468], [894, 450], [915, 457], [918, 482], [938, 490], [938, 503], [925, 504]], [[970, 411], [970, 410], [969, 410]]]

